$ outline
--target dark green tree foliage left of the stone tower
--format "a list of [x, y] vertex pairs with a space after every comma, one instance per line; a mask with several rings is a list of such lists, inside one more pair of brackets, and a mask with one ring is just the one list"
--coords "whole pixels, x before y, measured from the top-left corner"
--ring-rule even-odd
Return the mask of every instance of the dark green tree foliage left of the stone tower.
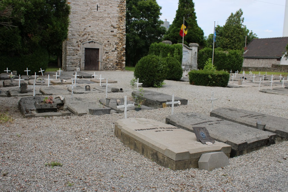
[[0, 12], [7, 7], [11, 7], [10, 15], [0, 15], [2, 55], [33, 55], [39, 48], [50, 55], [61, 54], [62, 41], [67, 38], [69, 26], [67, 0], [1, 0]]

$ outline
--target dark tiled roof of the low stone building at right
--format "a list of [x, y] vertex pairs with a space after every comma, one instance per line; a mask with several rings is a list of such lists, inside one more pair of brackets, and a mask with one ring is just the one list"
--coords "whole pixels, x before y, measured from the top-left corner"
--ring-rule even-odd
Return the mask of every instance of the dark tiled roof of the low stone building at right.
[[288, 37], [253, 39], [247, 45], [244, 58], [281, 58], [286, 52]]

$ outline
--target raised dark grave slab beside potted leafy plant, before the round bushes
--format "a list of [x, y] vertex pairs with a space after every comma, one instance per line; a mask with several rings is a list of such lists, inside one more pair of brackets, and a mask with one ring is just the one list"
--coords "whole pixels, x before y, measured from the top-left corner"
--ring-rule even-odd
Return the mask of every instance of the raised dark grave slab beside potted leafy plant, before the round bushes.
[[[132, 95], [137, 95], [139, 96], [139, 91], [136, 91], [135, 93], [132, 92]], [[163, 104], [166, 102], [171, 102], [172, 101], [172, 95], [164, 94], [164, 93], [159, 93], [155, 91], [146, 91], [143, 94], [143, 98], [145, 99], [144, 105], [148, 107], [152, 107], [154, 109], [160, 109], [163, 108]], [[180, 101], [181, 105], [187, 105], [188, 100], [183, 99], [180, 97], [174, 97], [175, 101]], [[177, 104], [174, 104], [174, 107], [176, 107]]]

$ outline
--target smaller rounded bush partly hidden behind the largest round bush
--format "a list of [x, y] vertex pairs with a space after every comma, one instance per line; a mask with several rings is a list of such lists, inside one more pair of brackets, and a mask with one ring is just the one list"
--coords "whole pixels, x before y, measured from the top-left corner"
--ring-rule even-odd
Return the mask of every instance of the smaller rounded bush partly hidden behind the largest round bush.
[[166, 65], [167, 80], [179, 81], [182, 78], [183, 71], [181, 63], [175, 57], [162, 58], [162, 62]]

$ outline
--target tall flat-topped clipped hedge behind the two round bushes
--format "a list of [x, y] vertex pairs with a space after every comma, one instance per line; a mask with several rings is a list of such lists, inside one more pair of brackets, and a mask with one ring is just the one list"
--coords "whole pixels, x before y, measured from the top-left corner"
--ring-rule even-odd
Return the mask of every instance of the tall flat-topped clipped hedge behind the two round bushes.
[[[175, 54], [178, 51], [178, 54]], [[149, 47], [149, 55], [157, 55], [162, 57], [167, 57], [168, 55], [173, 55], [177, 57], [179, 62], [182, 62], [182, 44], [165, 44], [165, 43], [152, 43]]]

